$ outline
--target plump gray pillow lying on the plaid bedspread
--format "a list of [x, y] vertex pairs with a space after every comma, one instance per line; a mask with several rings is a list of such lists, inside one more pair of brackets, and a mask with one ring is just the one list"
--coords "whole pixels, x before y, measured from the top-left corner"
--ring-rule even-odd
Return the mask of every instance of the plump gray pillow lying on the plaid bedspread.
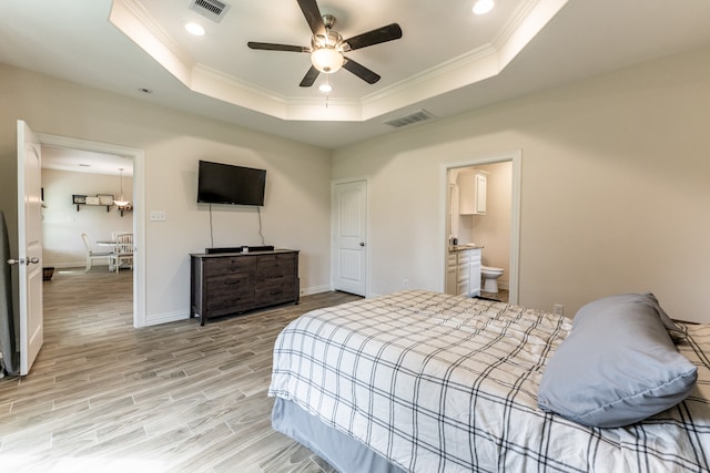
[[615, 428], [678, 404], [698, 370], [669, 330], [682, 332], [652, 294], [587, 304], [545, 369], [538, 407], [580, 424]]

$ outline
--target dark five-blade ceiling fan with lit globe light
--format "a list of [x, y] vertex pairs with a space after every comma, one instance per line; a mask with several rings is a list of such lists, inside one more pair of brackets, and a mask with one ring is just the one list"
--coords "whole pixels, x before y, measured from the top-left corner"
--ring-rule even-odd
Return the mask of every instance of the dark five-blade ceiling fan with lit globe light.
[[341, 68], [361, 78], [368, 84], [374, 84], [381, 78], [375, 72], [346, 58], [344, 53], [355, 51], [356, 49], [366, 48], [373, 44], [379, 44], [402, 38], [402, 28], [397, 23], [387, 24], [382, 28], [358, 34], [356, 37], [344, 40], [335, 30], [335, 17], [331, 14], [321, 14], [316, 0], [297, 0], [303, 16], [311, 27], [313, 37], [311, 38], [311, 48], [296, 47], [288, 44], [260, 43], [250, 41], [246, 43], [251, 49], [265, 51], [287, 51], [287, 52], [305, 52], [311, 54], [311, 69], [301, 81], [302, 88], [313, 85], [321, 72], [332, 74]]

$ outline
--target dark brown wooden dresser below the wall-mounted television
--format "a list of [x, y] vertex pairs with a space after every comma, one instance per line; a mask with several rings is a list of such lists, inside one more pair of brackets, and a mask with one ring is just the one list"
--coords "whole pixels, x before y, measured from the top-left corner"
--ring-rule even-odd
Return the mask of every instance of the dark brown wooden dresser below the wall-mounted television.
[[298, 251], [190, 255], [190, 317], [206, 319], [298, 304]]

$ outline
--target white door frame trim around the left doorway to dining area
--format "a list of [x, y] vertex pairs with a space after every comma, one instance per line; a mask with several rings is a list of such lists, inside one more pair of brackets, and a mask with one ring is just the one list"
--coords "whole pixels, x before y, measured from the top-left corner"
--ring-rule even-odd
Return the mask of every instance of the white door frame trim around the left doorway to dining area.
[[133, 235], [134, 245], [139, 248], [133, 256], [133, 327], [145, 327], [145, 151], [70, 136], [36, 134], [42, 145], [118, 154], [133, 160]]

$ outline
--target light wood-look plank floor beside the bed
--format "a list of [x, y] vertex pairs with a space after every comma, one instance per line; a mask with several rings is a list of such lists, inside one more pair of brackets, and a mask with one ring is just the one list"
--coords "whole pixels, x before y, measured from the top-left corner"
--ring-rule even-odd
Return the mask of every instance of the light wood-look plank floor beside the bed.
[[132, 274], [57, 270], [44, 346], [0, 379], [0, 472], [333, 472], [271, 428], [272, 349], [343, 292], [217, 319], [133, 329]]

